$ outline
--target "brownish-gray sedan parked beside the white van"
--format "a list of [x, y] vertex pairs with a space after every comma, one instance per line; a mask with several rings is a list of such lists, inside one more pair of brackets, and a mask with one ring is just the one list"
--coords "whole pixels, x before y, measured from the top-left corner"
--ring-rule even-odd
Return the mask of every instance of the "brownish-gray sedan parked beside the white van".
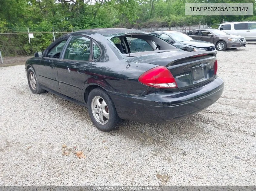
[[196, 29], [187, 32], [194, 40], [203, 40], [215, 44], [219, 51], [245, 46], [246, 40], [239, 35], [230, 35], [218, 29]]

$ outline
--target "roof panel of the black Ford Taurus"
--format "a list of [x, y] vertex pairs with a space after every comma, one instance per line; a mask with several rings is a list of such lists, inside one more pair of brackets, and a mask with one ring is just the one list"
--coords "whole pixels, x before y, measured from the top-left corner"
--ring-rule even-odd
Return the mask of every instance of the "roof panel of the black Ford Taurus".
[[114, 36], [121, 36], [125, 34], [149, 34], [146, 32], [143, 32], [141, 30], [135, 30], [135, 29], [126, 29], [126, 28], [94, 28], [94, 29], [86, 29], [86, 30], [79, 30], [73, 33], [69, 33], [68, 35], [72, 34], [84, 34], [84, 35], [90, 35], [99, 33], [105, 37], [114, 37]]

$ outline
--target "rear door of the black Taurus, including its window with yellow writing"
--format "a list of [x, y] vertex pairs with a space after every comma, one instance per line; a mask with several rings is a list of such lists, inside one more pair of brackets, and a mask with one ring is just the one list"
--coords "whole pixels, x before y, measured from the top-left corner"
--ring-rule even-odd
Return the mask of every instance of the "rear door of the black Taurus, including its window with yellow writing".
[[58, 63], [58, 84], [63, 95], [82, 100], [82, 89], [89, 77], [91, 66], [91, 39], [72, 36]]

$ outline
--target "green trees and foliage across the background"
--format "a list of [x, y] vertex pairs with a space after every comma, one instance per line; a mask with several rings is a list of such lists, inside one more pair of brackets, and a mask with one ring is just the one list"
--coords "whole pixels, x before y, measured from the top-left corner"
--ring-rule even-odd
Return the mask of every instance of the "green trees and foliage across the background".
[[[228, 3], [241, 0], [0, 0], [0, 49], [3, 55], [32, 55], [65, 31], [105, 27], [172, 27], [222, 21], [256, 21], [254, 16], [186, 16], [185, 3]], [[34, 33], [28, 43], [28, 28]]]

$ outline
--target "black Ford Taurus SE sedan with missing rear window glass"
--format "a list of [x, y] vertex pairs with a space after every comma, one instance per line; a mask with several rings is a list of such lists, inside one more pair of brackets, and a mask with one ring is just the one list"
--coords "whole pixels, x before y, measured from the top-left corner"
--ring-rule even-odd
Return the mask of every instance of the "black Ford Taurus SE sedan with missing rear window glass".
[[214, 55], [138, 30], [90, 29], [60, 37], [25, 70], [34, 94], [86, 106], [95, 126], [110, 131], [120, 119], [163, 123], [210, 106], [224, 87]]

